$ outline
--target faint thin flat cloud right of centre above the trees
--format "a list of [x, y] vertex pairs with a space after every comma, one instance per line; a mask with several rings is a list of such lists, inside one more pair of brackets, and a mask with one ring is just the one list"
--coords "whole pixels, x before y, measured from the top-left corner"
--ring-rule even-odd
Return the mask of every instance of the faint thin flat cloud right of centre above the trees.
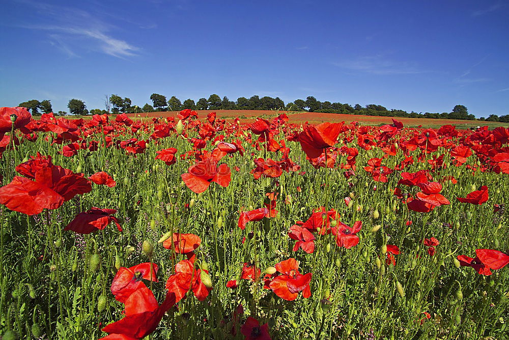
[[348, 70], [372, 73], [372, 74], [417, 74], [426, 73], [414, 63], [397, 62], [386, 59], [383, 56], [359, 57], [352, 60], [343, 60], [332, 63], [335, 66]]

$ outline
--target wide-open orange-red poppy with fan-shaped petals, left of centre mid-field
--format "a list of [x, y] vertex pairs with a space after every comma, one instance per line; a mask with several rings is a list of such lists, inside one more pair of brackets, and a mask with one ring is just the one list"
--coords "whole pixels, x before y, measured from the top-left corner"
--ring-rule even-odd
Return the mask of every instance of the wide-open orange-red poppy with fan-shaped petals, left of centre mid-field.
[[182, 174], [181, 177], [189, 189], [199, 194], [207, 190], [211, 182], [216, 182], [221, 187], [228, 187], [231, 172], [228, 165], [217, 166], [216, 160], [208, 158], [190, 166], [188, 173]]

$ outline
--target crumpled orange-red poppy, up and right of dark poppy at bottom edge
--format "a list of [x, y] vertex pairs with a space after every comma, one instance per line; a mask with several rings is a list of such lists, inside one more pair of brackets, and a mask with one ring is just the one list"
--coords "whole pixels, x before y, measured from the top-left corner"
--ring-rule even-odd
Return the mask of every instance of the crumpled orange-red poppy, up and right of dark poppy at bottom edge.
[[281, 261], [274, 266], [281, 275], [276, 276], [269, 284], [270, 289], [281, 299], [293, 301], [302, 292], [304, 298], [311, 296], [309, 282], [312, 273], [300, 274], [299, 262], [295, 258]]

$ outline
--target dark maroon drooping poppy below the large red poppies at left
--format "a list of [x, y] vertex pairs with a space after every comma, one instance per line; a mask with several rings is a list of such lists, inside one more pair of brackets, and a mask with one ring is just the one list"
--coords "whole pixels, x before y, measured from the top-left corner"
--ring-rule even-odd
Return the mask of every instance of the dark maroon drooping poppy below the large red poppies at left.
[[113, 221], [117, 225], [117, 229], [122, 231], [119, 220], [111, 214], [117, 211], [114, 209], [99, 209], [92, 207], [87, 212], [79, 213], [64, 230], [72, 230], [79, 234], [90, 234], [92, 231], [102, 230], [106, 228], [109, 222]]

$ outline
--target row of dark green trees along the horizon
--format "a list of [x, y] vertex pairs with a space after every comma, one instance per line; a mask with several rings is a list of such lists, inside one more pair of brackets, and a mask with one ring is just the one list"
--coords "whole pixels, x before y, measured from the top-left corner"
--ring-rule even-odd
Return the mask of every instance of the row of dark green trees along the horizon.
[[[469, 114], [464, 105], [456, 105], [451, 112], [442, 113], [417, 113], [407, 112], [404, 110], [390, 109], [377, 105], [367, 104], [361, 106], [355, 104], [351, 106], [348, 103], [320, 101], [314, 96], [308, 96], [304, 99], [296, 99], [292, 102], [285, 102], [279, 97], [261, 97], [258, 95], [251, 96], [250, 98], [239, 97], [236, 101], [230, 100], [227, 96], [222, 99], [217, 94], [211, 94], [209, 98], [200, 98], [197, 101], [193, 99], [186, 99], [181, 101], [176, 96], [166, 99], [166, 96], [158, 93], [153, 93], [150, 96], [152, 105], [145, 103], [143, 107], [133, 105], [130, 98], [122, 98], [117, 94], [105, 95], [104, 106], [105, 109], [92, 109], [88, 110], [85, 103], [79, 99], [71, 99], [68, 103], [68, 109], [74, 115], [88, 115], [88, 114], [103, 114], [103, 113], [149, 113], [159, 111], [181, 111], [184, 109], [191, 110], [284, 110], [284, 111], [307, 111], [319, 113], [337, 113], [348, 115], [364, 115], [364, 116], [390, 116], [390, 117], [409, 117], [409, 118], [442, 118], [442, 119], [468, 119], [480, 121], [499, 121], [509, 122], [509, 115], [497, 116], [490, 115], [487, 118], [475, 118], [474, 115]], [[39, 101], [36, 99], [25, 101], [19, 104], [21, 107], [29, 109], [33, 115], [51, 112], [51, 102], [47, 99]], [[57, 114], [65, 115], [67, 112], [59, 111]]]

